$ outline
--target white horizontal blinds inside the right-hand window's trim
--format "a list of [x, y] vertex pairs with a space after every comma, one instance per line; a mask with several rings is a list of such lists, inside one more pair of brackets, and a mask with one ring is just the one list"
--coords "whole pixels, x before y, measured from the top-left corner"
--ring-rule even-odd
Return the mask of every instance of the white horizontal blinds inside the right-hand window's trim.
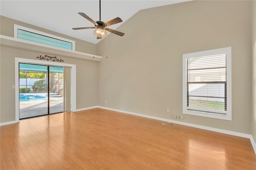
[[213, 113], [226, 111], [226, 54], [188, 58], [186, 63], [187, 107]]

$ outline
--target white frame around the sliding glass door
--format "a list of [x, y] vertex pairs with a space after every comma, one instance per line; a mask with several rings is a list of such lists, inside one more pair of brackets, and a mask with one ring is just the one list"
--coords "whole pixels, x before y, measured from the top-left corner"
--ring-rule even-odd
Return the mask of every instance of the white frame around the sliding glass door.
[[52, 61], [41, 61], [15, 57], [15, 122], [20, 121], [19, 116], [19, 63], [40, 64], [50, 66], [61, 66], [71, 68], [71, 111], [76, 111], [76, 65], [66, 63], [56, 63]]

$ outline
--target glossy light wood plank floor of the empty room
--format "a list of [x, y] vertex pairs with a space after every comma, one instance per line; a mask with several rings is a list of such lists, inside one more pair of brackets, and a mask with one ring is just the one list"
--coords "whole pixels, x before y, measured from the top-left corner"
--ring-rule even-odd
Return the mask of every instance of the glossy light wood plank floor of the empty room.
[[1, 126], [0, 169], [255, 170], [249, 139], [105, 109]]

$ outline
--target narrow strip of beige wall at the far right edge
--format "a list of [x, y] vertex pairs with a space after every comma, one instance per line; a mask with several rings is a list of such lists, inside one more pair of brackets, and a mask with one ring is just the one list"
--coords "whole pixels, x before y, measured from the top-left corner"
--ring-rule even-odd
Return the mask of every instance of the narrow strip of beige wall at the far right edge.
[[252, 137], [256, 141], [256, 1], [252, 2]]

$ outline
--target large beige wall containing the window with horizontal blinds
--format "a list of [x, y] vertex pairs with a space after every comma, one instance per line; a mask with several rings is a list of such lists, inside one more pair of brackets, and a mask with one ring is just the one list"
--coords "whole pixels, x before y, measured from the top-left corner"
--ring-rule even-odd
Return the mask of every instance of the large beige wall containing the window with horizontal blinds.
[[[139, 11], [118, 28], [124, 37], [98, 43], [99, 105], [251, 134], [252, 87], [242, 86], [252, 84], [251, 5], [191, 1]], [[182, 54], [230, 46], [232, 121], [182, 114]]]

